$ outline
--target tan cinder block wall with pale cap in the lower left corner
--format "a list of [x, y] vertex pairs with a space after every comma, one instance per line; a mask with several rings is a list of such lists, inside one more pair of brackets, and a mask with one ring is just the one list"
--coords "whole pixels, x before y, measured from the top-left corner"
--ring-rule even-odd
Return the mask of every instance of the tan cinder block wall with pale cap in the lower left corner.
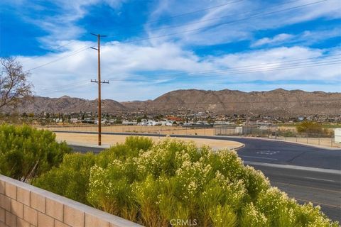
[[0, 175], [0, 227], [137, 227], [124, 218]]

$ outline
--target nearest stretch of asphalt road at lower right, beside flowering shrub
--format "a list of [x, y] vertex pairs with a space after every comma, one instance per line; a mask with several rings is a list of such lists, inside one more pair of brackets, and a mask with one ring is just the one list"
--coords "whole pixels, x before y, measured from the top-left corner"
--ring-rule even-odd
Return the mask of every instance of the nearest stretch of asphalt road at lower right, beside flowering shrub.
[[[256, 170], [269, 177], [276, 186], [299, 203], [313, 202], [332, 220], [341, 223], [341, 175], [340, 173], [266, 167], [264, 163], [253, 163]], [[322, 170], [323, 171], [323, 170]]]

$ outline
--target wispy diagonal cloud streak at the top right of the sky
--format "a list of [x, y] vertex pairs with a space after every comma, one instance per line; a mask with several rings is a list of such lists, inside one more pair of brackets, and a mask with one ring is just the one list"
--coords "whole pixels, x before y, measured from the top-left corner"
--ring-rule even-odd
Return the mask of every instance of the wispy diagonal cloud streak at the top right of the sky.
[[[160, 4], [155, 9], [155, 12], [158, 12], [156, 15], [166, 14], [171, 16], [177, 13], [181, 14], [184, 9], [188, 9], [185, 7], [181, 8], [183, 2], [162, 2], [163, 4]], [[210, 6], [217, 5], [217, 1], [190, 2], [198, 9], [210, 8]], [[188, 26], [173, 27], [162, 31], [153, 31], [153, 27], [148, 26], [146, 32], [149, 37], [175, 34], [163, 38], [163, 41], [180, 40], [179, 43], [184, 44], [215, 45], [235, 42], [236, 40], [251, 39], [253, 33], [259, 30], [280, 28], [316, 18], [335, 19], [341, 17], [341, 6], [337, 0], [282, 1], [271, 4], [264, 4], [261, 1], [233, 2], [234, 4], [183, 18], [182, 23], [188, 23]], [[165, 5], [168, 7], [165, 7]], [[152, 20], [155, 20], [157, 17], [155, 14], [152, 15]], [[171, 20], [163, 24], [157, 24], [156, 26], [176, 26], [177, 24], [177, 20]]]

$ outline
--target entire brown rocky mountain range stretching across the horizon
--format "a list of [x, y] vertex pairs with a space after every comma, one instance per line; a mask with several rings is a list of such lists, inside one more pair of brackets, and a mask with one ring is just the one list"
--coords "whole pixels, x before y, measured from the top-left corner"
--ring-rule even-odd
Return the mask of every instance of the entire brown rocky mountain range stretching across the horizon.
[[[79, 112], [96, 111], [97, 100], [62, 96], [60, 98], [35, 97], [31, 103], [18, 107], [19, 112]], [[197, 89], [168, 92], [154, 100], [103, 100], [102, 111], [146, 111], [147, 113], [184, 113], [210, 111], [213, 114], [247, 114], [271, 116], [302, 116], [341, 113], [341, 93], [287, 91], [240, 92], [224, 89], [204, 91]]]

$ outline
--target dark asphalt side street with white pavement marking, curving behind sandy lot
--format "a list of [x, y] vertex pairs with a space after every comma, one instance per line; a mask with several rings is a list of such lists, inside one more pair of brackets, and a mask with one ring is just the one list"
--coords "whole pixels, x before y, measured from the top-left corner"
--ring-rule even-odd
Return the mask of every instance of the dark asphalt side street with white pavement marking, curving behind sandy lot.
[[[71, 131], [62, 131], [77, 133]], [[85, 133], [85, 132], [78, 132]], [[95, 134], [95, 132], [88, 132]], [[146, 133], [102, 133], [109, 135], [148, 135], [166, 136]], [[233, 140], [244, 143], [245, 147], [239, 149], [239, 156], [243, 160], [255, 162], [270, 162], [286, 165], [300, 165], [323, 169], [341, 170], [341, 150], [328, 150], [315, 148], [308, 145], [288, 143], [281, 140], [264, 140], [257, 138], [237, 138], [229, 136], [208, 135], [171, 135], [178, 138], [206, 138], [216, 140]]]

